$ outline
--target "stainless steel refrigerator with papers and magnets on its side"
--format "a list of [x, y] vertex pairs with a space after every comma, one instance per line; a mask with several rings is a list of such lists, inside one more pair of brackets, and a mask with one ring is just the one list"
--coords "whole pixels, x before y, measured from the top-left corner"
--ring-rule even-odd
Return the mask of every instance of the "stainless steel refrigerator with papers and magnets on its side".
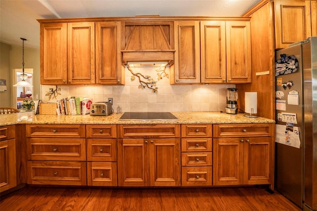
[[317, 37], [275, 52], [275, 189], [317, 210]]

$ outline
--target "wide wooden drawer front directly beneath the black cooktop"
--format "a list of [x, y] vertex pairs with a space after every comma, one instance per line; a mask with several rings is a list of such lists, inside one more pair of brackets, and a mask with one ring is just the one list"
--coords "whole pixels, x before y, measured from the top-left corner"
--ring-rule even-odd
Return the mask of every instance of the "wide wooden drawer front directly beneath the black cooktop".
[[159, 125], [118, 125], [119, 138], [142, 137], [142, 138], [172, 138], [180, 137], [179, 124]]

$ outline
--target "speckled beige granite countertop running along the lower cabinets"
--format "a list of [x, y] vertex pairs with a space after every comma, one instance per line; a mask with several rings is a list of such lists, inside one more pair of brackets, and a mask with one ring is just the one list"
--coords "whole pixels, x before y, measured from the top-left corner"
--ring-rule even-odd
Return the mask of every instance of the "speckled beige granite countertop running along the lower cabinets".
[[[178, 120], [170, 121], [126, 121], [119, 120], [123, 113], [112, 113], [109, 116], [90, 115], [34, 115], [11, 113], [0, 115], [0, 126], [13, 124], [231, 124], [231, 123], [275, 123], [263, 117], [248, 118], [244, 114], [227, 114], [224, 112], [171, 112]], [[21, 116], [28, 116], [21, 120]], [[23, 119], [23, 117], [22, 117]]]

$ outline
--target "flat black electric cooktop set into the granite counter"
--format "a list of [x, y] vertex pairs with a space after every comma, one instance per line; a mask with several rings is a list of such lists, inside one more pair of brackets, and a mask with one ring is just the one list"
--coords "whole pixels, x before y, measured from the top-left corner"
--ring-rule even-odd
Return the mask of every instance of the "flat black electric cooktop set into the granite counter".
[[178, 120], [176, 116], [170, 112], [124, 112], [119, 120], [160, 120], [170, 121]]

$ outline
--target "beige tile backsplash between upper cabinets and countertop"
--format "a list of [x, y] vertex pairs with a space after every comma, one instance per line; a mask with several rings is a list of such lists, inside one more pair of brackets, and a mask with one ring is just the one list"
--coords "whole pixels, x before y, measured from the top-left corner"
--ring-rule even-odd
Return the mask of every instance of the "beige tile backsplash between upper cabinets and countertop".
[[[151, 75], [156, 78], [155, 67], [134, 68], [135, 73]], [[146, 71], [144, 73], [144, 71]], [[166, 68], [169, 73], [169, 67]], [[151, 73], [151, 74], [149, 74]], [[131, 81], [132, 74], [125, 68], [125, 85], [104, 85], [104, 86], [58, 86], [61, 90], [57, 99], [65, 97], [87, 97], [94, 102], [106, 102], [113, 98], [113, 109], [116, 112], [117, 106], [122, 112], [155, 112], [155, 111], [224, 111], [226, 106], [226, 89], [235, 87], [234, 84], [224, 85], [170, 85], [169, 78], [162, 78], [157, 82], [158, 93], [150, 89], [139, 89], [139, 81]], [[55, 102], [46, 96], [51, 85], [41, 85], [43, 102]]]

